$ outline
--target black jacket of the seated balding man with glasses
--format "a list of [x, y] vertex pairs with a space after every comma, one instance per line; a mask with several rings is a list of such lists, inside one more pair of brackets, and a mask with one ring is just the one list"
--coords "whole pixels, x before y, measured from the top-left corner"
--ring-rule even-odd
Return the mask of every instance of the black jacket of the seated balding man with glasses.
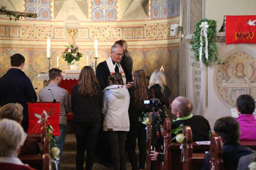
[[186, 120], [174, 121], [172, 123], [172, 129], [176, 129], [182, 123], [183, 126], [190, 126], [193, 141], [210, 141], [210, 124], [203, 116], [193, 115], [193, 117]]

